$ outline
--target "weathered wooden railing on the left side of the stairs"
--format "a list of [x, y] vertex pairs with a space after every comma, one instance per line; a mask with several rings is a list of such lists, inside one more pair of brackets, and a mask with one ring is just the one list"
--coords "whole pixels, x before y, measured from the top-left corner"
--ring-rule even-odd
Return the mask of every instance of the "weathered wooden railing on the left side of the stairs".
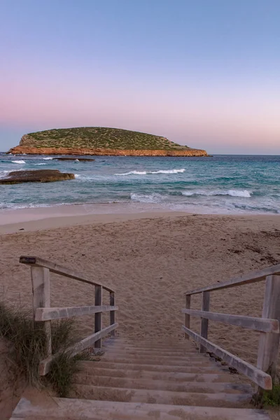
[[[55, 356], [57, 356], [57, 354], [52, 354], [50, 326], [52, 320], [94, 314], [94, 333], [69, 347], [69, 349], [66, 349], [72, 356], [87, 349], [87, 347], [92, 346], [92, 344], [94, 344], [95, 349], [101, 349], [102, 337], [109, 335], [109, 333], [111, 336], [115, 335], [116, 328], [118, 328], [118, 323], [116, 323], [116, 310], [118, 310], [118, 307], [116, 307], [115, 292], [111, 288], [104, 286], [101, 283], [91, 281], [79, 272], [43, 260], [42, 258], [21, 256], [20, 262], [22, 262], [22, 264], [30, 265], [31, 267], [34, 321], [43, 321], [46, 333], [45, 353], [47, 357], [39, 364], [38, 372], [40, 375], [43, 376], [49, 372], [50, 364]], [[94, 305], [85, 307], [50, 307], [50, 272], [61, 274], [70, 279], [94, 286]], [[107, 290], [110, 293], [109, 306], [102, 305], [103, 290]], [[102, 313], [105, 311], [110, 312], [110, 325], [106, 328], [102, 328]]]

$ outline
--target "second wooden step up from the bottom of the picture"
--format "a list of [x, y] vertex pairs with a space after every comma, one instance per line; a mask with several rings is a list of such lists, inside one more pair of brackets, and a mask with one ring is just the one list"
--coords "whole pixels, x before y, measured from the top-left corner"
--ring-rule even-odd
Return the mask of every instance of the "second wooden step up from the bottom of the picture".
[[251, 386], [244, 384], [234, 384], [225, 382], [197, 382], [197, 381], [176, 381], [164, 379], [142, 379], [142, 378], [119, 378], [97, 376], [92, 374], [77, 374], [74, 380], [76, 384], [80, 385], [94, 385], [94, 386], [110, 386], [113, 388], [137, 388], [137, 389], [161, 389], [162, 391], [175, 392], [200, 392], [200, 393], [214, 393], [214, 392], [229, 392], [237, 393], [253, 393]]

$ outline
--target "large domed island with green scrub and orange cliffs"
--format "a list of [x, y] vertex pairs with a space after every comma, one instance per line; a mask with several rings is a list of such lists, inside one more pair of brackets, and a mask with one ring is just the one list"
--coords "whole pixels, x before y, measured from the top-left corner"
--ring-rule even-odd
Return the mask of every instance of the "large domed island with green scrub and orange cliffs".
[[76, 127], [25, 134], [15, 155], [209, 156], [165, 137], [106, 127]]

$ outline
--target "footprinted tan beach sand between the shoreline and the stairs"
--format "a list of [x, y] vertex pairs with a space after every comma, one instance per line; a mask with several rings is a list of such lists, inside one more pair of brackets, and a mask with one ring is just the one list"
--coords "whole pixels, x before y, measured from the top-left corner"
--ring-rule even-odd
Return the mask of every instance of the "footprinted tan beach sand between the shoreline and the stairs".
[[[116, 290], [122, 337], [183, 339], [184, 292], [280, 262], [280, 216], [142, 213], [15, 222], [1, 225], [1, 299], [31, 307], [29, 267], [19, 258], [37, 255]], [[210, 309], [261, 316], [263, 296], [263, 282], [221, 290], [211, 293]], [[53, 274], [51, 304], [94, 304], [94, 289]], [[201, 295], [192, 297], [191, 307], [200, 305]], [[82, 335], [92, 332], [93, 316], [78, 322]], [[198, 331], [199, 321], [191, 326]], [[209, 321], [209, 339], [256, 361], [257, 332]]]

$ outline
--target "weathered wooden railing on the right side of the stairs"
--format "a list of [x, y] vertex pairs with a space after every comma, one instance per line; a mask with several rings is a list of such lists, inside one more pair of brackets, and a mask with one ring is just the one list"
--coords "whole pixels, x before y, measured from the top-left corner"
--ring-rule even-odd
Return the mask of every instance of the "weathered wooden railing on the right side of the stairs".
[[[210, 292], [235, 286], [242, 286], [249, 283], [265, 281], [265, 298], [262, 307], [262, 318], [252, 316], [239, 316], [219, 314], [210, 312]], [[190, 297], [202, 293], [202, 310], [190, 309]], [[186, 308], [182, 309], [185, 314], [185, 325], [182, 326], [185, 337], [193, 338], [200, 344], [200, 352], [209, 351], [225, 360], [228, 365], [235, 367], [238, 372], [243, 373], [262, 389], [272, 389], [274, 376], [276, 374], [277, 359], [279, 356], [279, 321], [280, 321], [280, 264], [262, 269], [258, 272], [246, 274], [223, 283], [216, 283], [185, 293]], [[190, 316], [201, 318], [200, 334], [190, 329]], [[208, 321], [218, 321], [230, 325], [257, 330], [260, 332], [258, 346], [257, 367], [247, 363], [232, 353], [225, 351], [208, 338]]]

